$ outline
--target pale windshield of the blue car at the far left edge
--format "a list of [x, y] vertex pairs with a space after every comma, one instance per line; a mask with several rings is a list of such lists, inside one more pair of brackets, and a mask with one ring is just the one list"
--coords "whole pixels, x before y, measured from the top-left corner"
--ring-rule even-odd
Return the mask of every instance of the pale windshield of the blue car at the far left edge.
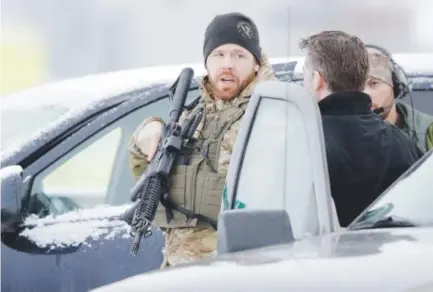
[[0, 151], [17, 146], [55, 121], [70, 108], [62, 105], [1, 108]]

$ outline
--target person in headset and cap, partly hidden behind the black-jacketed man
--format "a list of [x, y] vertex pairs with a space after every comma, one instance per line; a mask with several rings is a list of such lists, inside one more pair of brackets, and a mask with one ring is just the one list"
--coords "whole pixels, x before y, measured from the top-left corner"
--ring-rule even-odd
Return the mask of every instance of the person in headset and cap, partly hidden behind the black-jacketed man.
[[423, 152], [432, 149], [433, 117], [400, 102], [408, 95], [412, 101], [405, 72], [385, 49], [366, 48], [370, 70], [364, 92], [372, 99], [373, 111], [411, 137]]

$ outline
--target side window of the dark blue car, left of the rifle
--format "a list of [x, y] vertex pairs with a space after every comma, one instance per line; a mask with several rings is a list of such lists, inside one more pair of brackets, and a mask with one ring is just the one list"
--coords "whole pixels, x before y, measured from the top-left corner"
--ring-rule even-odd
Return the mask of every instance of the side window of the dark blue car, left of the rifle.
[[[196, 90], [190, 91], [187, 102], [197, 96]], [[40, 205], [49, 214], [130, 202], [134, 178], [129, 169], [129, 139], [144, 119], [151, 116], [167, 119], [169, 106], [168, 98], [163, 98], [103, 127], [38, 173], [32, 195], [38, 201], [43, 200]]]

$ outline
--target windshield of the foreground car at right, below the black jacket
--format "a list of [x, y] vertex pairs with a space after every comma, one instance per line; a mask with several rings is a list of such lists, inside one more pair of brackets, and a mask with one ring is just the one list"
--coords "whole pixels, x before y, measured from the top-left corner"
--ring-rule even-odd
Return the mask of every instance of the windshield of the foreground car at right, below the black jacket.
[[432, 153], [433, 150], [400, 177], [348, 228], [372, 226], [385, 218], [400, 218], [416, 226], [433, 225]]

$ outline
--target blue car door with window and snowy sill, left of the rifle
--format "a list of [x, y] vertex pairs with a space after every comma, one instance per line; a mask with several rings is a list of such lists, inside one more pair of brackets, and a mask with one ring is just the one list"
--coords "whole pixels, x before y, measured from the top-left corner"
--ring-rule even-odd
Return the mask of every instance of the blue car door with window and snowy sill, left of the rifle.
[[131, 256], [129, 228], [116, 218], [134, 183], [129, 138], [143, 119], [168, 117], [166, 94], [131, 96], [25, 167], [28, 216], [24, 228], [2, 228], [2, 291], [88, 291], [159, 267], [162, 234], [154, 230]]

